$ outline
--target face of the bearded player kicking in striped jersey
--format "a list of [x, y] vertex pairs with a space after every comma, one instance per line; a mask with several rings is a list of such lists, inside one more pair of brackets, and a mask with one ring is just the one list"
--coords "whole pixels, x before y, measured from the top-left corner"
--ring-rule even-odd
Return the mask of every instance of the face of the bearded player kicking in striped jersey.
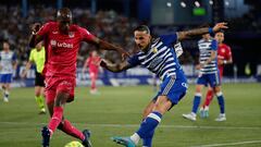
[[136, 30], [134, 32], [134, 37], [135, 37], [135, 42], [136, 45], [141, 49], [146, 49], [148, 45], [150, 44], [151, 36], [147, 34], [146, 30], [139, 32]]

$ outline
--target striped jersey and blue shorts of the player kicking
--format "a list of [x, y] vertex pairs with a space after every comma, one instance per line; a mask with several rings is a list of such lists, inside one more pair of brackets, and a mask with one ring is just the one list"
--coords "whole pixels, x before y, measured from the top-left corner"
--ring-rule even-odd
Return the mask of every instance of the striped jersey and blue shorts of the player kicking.
[[173, 106], [185, 96], [187, 90], [187, 79], [173, 46], [176, 42], [176, 34], [160, 36], [151, 42], [147, 52], [139, 51], [128, 59], [132, 66], [147, 68], [162, 79], [160, 90], [153, 101], [159, 96], [166, 96]]

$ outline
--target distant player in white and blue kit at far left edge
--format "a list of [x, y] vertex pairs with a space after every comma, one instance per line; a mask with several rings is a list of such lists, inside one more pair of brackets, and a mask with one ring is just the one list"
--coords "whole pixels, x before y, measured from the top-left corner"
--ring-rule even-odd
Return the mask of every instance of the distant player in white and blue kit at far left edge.
[[0, 85], [3, 90], [3, 101], [9, 102], [10, 84], [13, 71], [16, 69], [16, 56], [10, 50], [7, 40], [3, 41], [3, 50], [0, 51]]

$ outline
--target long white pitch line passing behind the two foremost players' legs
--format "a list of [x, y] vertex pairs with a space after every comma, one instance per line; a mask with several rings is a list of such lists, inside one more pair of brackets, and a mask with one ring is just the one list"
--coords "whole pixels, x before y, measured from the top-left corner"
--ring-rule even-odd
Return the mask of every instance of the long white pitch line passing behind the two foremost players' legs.
[[[32, 122], [0, 122], [0, 124], [9, 125], [46, 125], [47, 123], [32, 123]], [[88, 124], [88, 123], [73, 123], [76, 125], [100, 126], [100, 127], [138, 127], [139, 124]], [[199, 125], [159, 125], [162, 128], [201, 128], [201, 130], [261, 130], [258, 126], [199, 126]]]

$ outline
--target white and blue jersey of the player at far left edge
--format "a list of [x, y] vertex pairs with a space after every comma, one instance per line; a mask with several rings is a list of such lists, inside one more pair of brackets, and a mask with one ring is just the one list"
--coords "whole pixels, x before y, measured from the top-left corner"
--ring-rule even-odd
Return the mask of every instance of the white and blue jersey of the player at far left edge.
[[13, 61], [16, 61], [16, 56], [13, 51], [1, 51], [0, 52], [0, 74], [12, 74], [13, 73]]

